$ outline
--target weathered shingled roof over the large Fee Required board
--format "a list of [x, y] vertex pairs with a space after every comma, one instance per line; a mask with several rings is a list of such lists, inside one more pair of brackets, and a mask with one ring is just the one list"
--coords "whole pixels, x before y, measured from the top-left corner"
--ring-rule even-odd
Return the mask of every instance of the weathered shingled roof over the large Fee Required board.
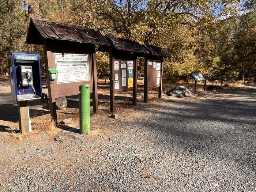
[[86, 44], [109, 46], [107, 39], [99, 30], [56, 22], [44, 18], [31, 17], [27, 33], [27, 44], [43, 44], [43, 38], [60, 39]]

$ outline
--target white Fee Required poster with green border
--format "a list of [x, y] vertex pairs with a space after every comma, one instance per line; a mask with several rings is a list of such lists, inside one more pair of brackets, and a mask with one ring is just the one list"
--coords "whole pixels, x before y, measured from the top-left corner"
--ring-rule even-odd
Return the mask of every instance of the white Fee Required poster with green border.
[[87, 54], [54, 53], [58, 71], [57, 83], [89, 81], [89, 63]]

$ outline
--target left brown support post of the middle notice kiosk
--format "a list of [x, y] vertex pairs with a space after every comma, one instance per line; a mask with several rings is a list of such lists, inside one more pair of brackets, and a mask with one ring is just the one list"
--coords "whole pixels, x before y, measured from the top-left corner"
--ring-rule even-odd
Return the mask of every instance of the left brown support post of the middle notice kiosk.
[[115, 110], [115, 93], [114, 93], [114, 72], [113, 72], [113, 67], [114, 67], [114, 60], [115, 58], [113, 57], [113, 45], [110, 46], [109, 48], [109, 66], [110, 66], [110, 112], [114, 112]]

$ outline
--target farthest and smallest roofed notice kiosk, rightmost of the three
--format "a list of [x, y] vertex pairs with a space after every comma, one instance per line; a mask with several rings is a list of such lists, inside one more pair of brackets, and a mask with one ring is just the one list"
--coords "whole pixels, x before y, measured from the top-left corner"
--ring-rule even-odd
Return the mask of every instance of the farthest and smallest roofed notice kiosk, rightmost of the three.
[[148, 102], [148, 88], [158, 87], [158, 98], [162, 97], [163, 59], [171, 58], [172, 55], [163, 47], [148, 44], [143, 46], [149, 52], [144, 56], [144, 102]]

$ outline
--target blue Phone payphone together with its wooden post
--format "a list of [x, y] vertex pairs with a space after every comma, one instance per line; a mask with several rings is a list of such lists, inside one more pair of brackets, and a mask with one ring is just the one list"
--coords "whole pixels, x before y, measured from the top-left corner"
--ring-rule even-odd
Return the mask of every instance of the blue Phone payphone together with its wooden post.
[[47, 98], [42, 93], [39, 54], [10, 52], [8, 66], [12, 100], [18, 103], [19, 129], [22, 133], [32, 132], [28, 101]]

